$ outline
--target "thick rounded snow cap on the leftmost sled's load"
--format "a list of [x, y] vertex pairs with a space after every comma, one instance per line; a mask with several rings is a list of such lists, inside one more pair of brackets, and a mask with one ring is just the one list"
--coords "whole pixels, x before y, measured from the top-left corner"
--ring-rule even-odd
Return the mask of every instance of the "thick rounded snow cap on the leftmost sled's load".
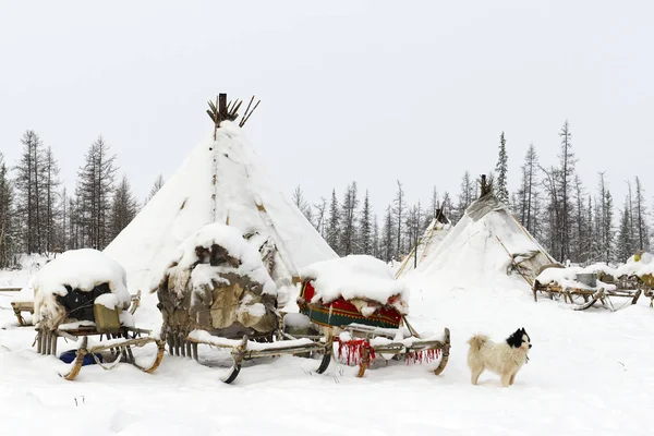
[[[69, 290], [76, 289], [89, 292], [96, 286], [107, 283], [116, 295], [114, 302], [128, 308], [131, 295], [126, 288], [124, 268], [106, 254], [93, 250], [71, 250], [46, 264], [29, 283], [34, 289], [34, 320], [63, 320], [65, 311], [57, 301], [57, 295], [64, 296]], [[51, 325], [52, 327], [53, 325]]]

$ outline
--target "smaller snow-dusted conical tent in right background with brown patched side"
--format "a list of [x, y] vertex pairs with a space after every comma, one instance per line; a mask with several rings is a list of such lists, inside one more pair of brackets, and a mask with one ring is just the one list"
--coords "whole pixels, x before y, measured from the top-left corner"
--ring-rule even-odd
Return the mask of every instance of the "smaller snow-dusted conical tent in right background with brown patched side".
[[438, 247], [409, 275], [439, 288], [531, 287], [556, 261], [489, 193], [473, 202]]

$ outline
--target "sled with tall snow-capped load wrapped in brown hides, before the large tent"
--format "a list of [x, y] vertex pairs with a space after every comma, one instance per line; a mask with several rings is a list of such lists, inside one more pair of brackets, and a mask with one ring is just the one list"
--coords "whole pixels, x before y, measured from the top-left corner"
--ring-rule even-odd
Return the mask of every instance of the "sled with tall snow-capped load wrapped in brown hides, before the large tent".
[[265, 356], [320, 352], [326, 358], [316, 371], [327, 368], [327, 340], [284, 338], [278, 288], [235, 227], [210, 223], [192, 234], [156, 291], [170, 354], [201, 362], [199, 344], [229, 351], [231, 365], [219, 375], [225, 383], [237, 378], [244, 361]]

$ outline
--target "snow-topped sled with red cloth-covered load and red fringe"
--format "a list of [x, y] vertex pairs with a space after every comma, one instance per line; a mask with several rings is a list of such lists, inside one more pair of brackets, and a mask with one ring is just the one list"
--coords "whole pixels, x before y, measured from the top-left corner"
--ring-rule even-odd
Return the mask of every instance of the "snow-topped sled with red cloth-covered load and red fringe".
[[439, 360], [434, 373], [445, 370], [449, 329], [431, 337], [417, 335], [407, 322], [408, 288], [384, 262], [350, 255], [310, 265], [301, 276], [300, 312], [334, 342], [341, 362], [359, 365], [358, 377], [378, 356], [407, 363]]

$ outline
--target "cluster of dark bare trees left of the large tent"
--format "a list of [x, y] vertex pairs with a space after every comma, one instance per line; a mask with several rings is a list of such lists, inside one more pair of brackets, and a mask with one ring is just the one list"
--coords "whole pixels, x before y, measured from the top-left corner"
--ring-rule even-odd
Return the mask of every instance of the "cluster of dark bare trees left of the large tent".
[[102, 138], [88, 147], [69, 192], [51, 147], [33, 130], [9, 166], [0, 153], [0, 268], [17, 265], [21, 253], [105, 249], [164, 185], [159, 175], [138, 202], [125, 174], [117, 178], [116, 155]]

